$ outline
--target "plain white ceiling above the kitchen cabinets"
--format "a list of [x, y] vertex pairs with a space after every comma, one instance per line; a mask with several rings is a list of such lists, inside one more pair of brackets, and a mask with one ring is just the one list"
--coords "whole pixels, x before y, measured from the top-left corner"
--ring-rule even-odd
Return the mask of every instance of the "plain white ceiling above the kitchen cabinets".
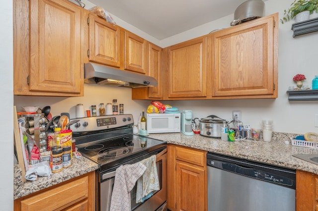
[[239, 4], [245, 0], [89, 1], [154, 38], [163, 40], [233, 14]]

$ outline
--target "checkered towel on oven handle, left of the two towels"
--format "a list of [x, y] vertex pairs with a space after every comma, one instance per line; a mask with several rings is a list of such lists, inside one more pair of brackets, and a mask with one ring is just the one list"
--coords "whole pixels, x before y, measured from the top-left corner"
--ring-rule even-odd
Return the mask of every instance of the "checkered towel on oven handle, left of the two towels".
[[146, 166], [135, 164], [121, 165], [116, 169], [114, 188], [111, 196], [111, 211], [130, 211], [130, 191], [134, 188], [137, 179], [143, 175]]

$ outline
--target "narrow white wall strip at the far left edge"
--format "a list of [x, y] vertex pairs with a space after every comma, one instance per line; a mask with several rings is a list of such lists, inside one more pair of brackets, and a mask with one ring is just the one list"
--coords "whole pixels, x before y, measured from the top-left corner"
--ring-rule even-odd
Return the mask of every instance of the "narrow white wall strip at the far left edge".
[[1, 2], [0, 84], [1, 148], [0, 210], [13, 210], [13, 20], [12, 0]]

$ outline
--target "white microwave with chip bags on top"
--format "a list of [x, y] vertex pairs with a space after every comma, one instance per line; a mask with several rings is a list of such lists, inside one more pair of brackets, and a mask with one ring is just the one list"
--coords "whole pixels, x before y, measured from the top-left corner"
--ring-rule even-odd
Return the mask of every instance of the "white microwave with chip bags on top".
[[180, 127], [180, 113], [147, 113], [148, 133], [177, 133]]

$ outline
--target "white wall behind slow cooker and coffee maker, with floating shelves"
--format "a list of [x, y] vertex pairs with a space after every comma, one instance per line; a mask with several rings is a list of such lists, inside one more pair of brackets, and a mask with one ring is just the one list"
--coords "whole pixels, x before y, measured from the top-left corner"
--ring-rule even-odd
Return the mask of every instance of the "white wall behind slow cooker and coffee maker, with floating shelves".
[[[265, 2], [266, 15], [279, 12], [282, 18], [284, 9], [292, 0], [268, 0]], [[170, 46], [185, 40], [205, 35], [214, 29], [227, 28], [233, 20], [233, 15], [217, 21], [204, 24], [184, 33], [160, 41], [161, 47]], [[304, 85], [311, 86], [312, 79], [318, 75], [317, 40], [318, 33], [303, 37], [292, 37], [291, 24], [294, 21], [279, 24], [279, 66], [278, 66], [278, 98], [258, 100], [211, 100], [211, 101], [175, 101], [173, 106], [182, 109], [192, 109], [195, 117], [205, 117], [210, 114], [231, 119], [232, 110], [242, 112], [242, 121], [259, 127], [263, 118], [274, 120], [274, 130], [278, 132], [306, 133], [318, 132], [314, 127], [315, 114], [318, 114], [318, 101], [289, 102], [286, 91], [288, 86], [296, 85], [292, 78], [297, 73], [305, 74]], [[171, 103], [172, 104], [172, 103]]]

